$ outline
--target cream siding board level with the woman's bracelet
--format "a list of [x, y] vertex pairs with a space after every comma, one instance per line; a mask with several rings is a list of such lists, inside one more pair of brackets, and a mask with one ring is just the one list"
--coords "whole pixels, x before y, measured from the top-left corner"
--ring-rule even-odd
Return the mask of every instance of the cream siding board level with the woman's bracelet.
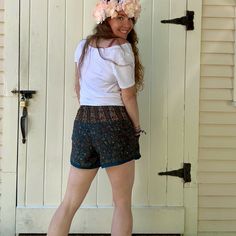
[[201, 136], [236, 137], [236, 125], [200, 125]]

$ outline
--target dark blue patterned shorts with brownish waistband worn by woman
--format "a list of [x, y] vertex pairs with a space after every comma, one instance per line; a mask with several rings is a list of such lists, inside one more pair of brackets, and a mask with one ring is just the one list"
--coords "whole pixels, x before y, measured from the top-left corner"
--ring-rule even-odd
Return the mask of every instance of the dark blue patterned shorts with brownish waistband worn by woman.
[[72, 134], [72, 166], [105, 168], [140, 157], [139, 141], [124, 106], [79, 108]]

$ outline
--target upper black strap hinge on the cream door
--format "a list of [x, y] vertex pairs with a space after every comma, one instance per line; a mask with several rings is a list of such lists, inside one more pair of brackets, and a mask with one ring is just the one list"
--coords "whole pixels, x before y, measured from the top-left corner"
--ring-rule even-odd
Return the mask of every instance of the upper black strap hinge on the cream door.
[[170, 20], [162, 20], [161, 23], [185, 25], [186, 30], [194, 30], [193, 19], [194, 19], [194, 11], [187, 11], [186, 16], [182, 16], [180, 18], [174, 18]]

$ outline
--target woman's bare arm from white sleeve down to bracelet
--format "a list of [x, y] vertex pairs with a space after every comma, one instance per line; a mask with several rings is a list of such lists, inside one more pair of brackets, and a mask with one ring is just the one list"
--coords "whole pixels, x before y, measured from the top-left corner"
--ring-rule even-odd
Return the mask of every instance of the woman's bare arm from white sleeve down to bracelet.
[[140, 129], [139, 110], [135, 86], [127, 89], [121, 89], [121, 97], [134, 128], [136, 130]]

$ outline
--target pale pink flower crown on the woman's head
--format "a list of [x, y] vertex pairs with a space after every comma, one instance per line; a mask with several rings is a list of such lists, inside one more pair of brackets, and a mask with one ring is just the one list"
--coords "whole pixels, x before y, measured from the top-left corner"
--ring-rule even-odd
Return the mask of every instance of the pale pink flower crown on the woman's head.
[[117, 17], [117, 12], [122, 10], [129, 18], [138, 19], [141, 12], [139, 0], [100, 0], [93, 11], [93, 17], [100, 24], [107, 17]]

